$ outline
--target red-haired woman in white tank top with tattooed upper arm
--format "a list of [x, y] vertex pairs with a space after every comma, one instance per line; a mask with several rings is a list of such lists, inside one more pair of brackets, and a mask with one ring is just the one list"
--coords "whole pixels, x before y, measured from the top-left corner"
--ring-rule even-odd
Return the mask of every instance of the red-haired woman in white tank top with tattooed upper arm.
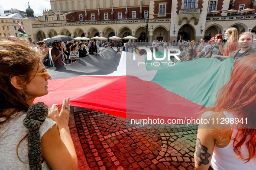
[[[201, 115], [194, 153], [197, 170], [256, 169], [256, 54], [235, 61], [214, 106]], [[250, 128], [250, 129], [249, 129]]]

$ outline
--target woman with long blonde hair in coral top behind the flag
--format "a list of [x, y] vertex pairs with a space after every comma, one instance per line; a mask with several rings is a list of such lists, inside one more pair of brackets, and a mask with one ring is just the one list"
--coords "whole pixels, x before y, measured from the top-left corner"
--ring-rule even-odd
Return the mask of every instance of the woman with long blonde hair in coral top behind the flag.
[[[230, 55], [238, 50], [239, 46], [238, 46], [238, 32], [237, 32], [237, 28], [233, 28], [230, 27], [227, 29], [227, 31], [224, 34], [224, 39], [227, 40], [227, 42], [225, 43], [225, 45], [222, 47], [220, 46], [220, 53], [222, 54], [222, 56], [220, 55], [214, 55], [213, 57], [219, 57], [219, 58], [230, 58]], [[221, 42], [221, 41], [220, 41]], [[219, 43], [221, 44], [221, 43]]]

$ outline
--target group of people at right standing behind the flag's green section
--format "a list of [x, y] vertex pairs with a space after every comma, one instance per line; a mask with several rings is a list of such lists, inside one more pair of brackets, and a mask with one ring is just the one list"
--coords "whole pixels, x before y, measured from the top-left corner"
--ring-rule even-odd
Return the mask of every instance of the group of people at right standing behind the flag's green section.
[[198, 58], [217, 58], [221, 61], [227, 58], [237, 60], [256, 52], [256, 49], [251, 47], [254, 36], [255, 33], [253, 32], [243, 32], [238, 36], [237, 28], [228, 28], [224, 37], [221, 34], [217, 34], [207, 43], [204, 38], [201, 38], [200, 44], [196, 45], [195, 41], [188, 41], [189, 45], [186, 47], [185, 44], [179, 41], [178, 49], [181, 51], [179, 58], [181, 61], [190, 61]]

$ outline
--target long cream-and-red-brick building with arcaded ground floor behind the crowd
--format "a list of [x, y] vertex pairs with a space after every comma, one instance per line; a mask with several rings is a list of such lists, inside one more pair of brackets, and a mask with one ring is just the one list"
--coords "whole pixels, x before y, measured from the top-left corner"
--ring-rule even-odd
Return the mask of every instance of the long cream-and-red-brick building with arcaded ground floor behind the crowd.
[[[229, 27], [256, 32], [254, 0], [50, 0], [51, 9], [43, 10], [39, 20], [24, 23], [36, 42], [55, 35], [123, 38], [131, 35], [137, 41], [146, 39], [146, 17], [149, 17], [148, 41], [195, 40]], [[237, 13], [224, 13], [229, 9]], [[211, 11], [217, 14], [207, 15]]]

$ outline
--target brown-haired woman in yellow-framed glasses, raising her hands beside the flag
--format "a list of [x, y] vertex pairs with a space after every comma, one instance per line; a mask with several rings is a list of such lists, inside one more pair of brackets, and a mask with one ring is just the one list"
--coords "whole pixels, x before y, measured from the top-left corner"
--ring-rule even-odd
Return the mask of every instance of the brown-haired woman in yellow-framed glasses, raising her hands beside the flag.
[[[58, 107], [53, 104], [50, 110], [42, 103], [33, 104], [35, 98], [49, 92], [51, 76], [42, 57], [41, 51], [26, 45], [0, 42], [0, 167], [3, 170], [78, 169], [68, 127], [69, 98]], [[41, 108], [38, 105], [44, 107], [43, 113], [36, 109]], [[34, 114], [29, 120], [31, 112]], [[40, 123], [39, 127], [37, 123]], [[28, 135], [35, 130], [39, 135]], [[35, 140], [39, 143], [33, 145]], [[32, 150], [39, 159], [31, 157], [31, 147], [39, 151], [37, 154]]]

